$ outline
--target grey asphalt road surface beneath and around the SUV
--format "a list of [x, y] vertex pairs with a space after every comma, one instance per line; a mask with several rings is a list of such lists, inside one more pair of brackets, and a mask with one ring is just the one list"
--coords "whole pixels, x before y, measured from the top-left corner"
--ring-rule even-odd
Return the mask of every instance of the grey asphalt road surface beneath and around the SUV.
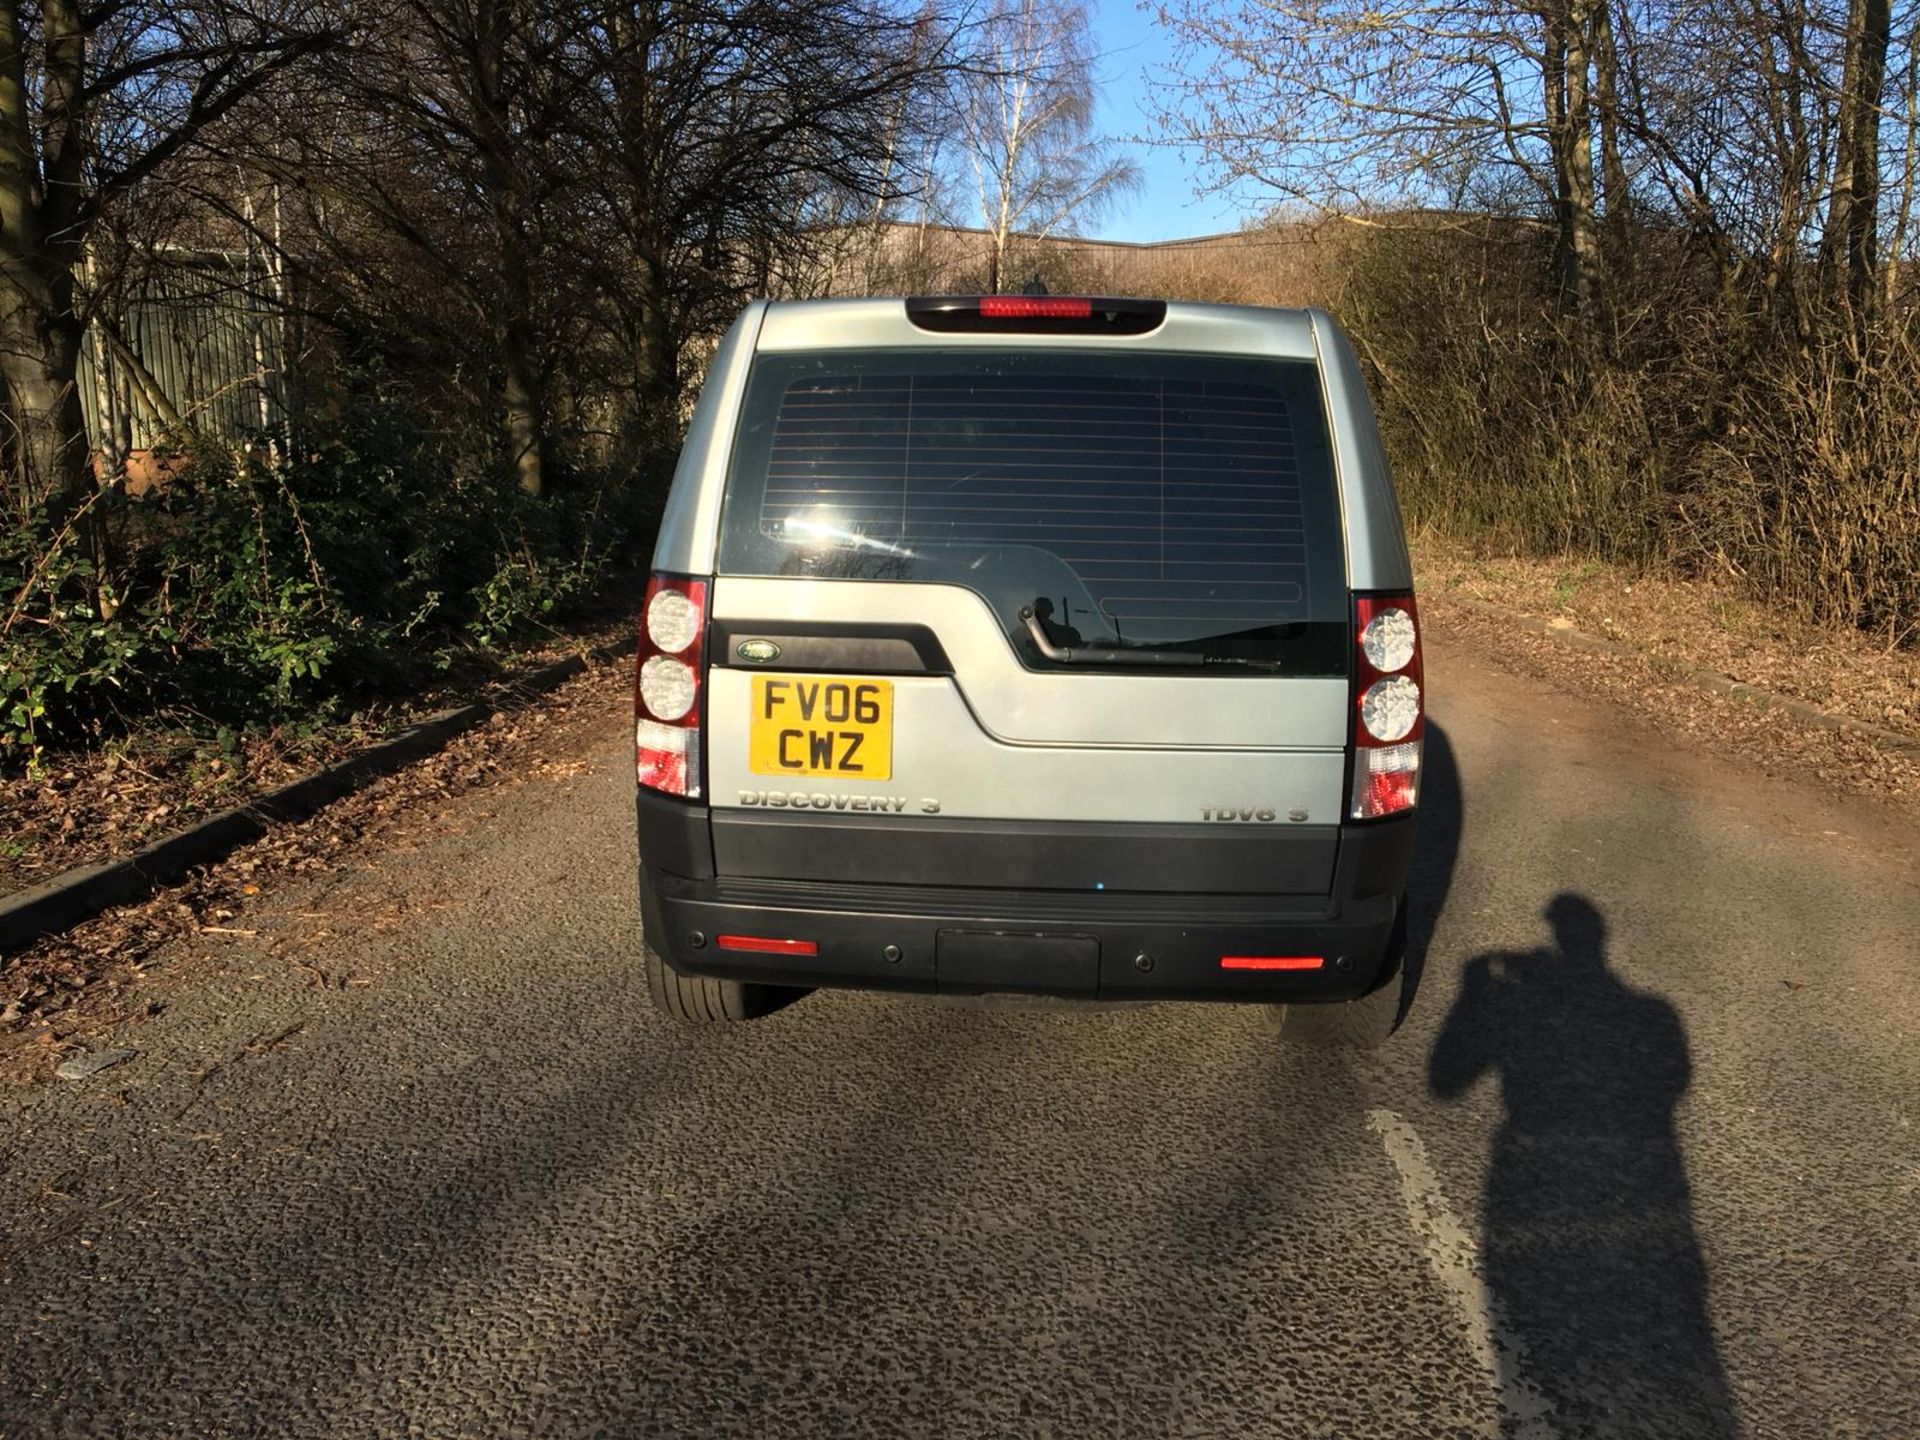
[[1365, 1058], [1202, 1006], [670, 1029], [607, 684], [171, 956], [132, 1062], [0, 1094], [0, 1434], [1920, 1436], [1920, 833], [1428, 662]]

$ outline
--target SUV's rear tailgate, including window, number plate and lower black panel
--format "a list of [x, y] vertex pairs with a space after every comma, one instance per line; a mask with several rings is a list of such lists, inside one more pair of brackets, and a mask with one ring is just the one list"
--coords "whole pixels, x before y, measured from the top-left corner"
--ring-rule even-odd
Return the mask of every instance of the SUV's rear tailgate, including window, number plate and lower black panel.
[[1342, 555], [1311, 361], [758, 357], [712, 597], [720, 874], [1325, 893]]

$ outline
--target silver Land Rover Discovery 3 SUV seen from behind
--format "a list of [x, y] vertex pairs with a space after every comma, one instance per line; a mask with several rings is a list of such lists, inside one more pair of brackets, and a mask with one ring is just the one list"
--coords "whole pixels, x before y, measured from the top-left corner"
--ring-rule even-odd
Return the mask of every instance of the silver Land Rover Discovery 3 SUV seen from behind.
[[851, 985], [1390, 1023], [1421, 639], [1327, 315], [756, 301], [653, 566], [641, 914], [670, 1016]]

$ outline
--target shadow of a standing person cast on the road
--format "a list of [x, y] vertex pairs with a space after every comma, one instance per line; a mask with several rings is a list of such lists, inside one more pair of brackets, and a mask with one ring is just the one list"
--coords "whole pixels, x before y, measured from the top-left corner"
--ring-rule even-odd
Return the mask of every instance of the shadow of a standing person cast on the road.
[[1674, 1133], [1686, 1027], [1607, 968], [1592, 902], [1546, 918], [1551, 947], [1467, 964], [1428, 1058], [1442, 1100], [1500, 1077], [1482, 1256], [1505, 1365], [1596, 1434], [1738, 1436]]

